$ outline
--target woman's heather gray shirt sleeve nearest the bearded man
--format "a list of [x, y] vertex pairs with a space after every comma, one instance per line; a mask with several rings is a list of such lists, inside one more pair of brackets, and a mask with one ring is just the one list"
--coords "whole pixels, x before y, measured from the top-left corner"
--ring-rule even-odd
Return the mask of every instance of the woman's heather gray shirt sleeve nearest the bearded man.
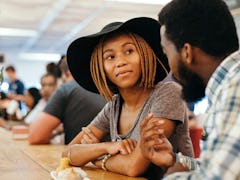
[[181, 86], [175, 82], [166, 82], [158, 88], [151, 105], [154, 116], [184, 122], [186, 104], [181, 97]]

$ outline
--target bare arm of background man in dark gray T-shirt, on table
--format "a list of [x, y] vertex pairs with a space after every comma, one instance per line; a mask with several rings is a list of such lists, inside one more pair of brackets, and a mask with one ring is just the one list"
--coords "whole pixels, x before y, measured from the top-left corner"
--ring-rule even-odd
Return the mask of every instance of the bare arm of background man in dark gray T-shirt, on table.
[[61, 121], [48, 113], [41, 112], [29, 126], [28, 141], [30, 144], [47, 144], [52, 137], [52, 131]]

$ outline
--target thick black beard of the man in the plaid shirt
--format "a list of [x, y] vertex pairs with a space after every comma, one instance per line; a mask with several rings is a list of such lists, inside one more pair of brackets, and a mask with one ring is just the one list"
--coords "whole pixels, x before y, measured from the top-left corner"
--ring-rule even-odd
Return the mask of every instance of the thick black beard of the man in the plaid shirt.
[[201, 77], [189, 70], [184, 63], [179, 60], [179, 79], [182, 85], [182, 96], [186, 102], [196, 102], [205, 96], [205, 85]]

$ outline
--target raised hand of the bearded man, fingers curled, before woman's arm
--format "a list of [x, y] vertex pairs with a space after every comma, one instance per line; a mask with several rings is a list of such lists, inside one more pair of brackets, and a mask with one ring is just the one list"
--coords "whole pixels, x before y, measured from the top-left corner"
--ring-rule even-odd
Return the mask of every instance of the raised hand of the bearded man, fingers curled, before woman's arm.
[[175, 163], [172, 145], [164, 135], [161, 120], [154, 120], [149, 114], [141, 123], [140, 148], [145, 158], [159, 167], [169, 168]]

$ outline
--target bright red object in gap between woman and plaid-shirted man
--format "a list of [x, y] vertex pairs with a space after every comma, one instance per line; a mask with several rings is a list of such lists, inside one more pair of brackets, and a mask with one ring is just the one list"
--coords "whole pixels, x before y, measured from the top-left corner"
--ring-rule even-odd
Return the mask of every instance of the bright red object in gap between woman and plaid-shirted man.
[[194, 127], [189, 129], [195, 158], [199, 158], [201, 153], [200, 140], [202, 139], [202, 131], [203, 129], [201, 127]]

